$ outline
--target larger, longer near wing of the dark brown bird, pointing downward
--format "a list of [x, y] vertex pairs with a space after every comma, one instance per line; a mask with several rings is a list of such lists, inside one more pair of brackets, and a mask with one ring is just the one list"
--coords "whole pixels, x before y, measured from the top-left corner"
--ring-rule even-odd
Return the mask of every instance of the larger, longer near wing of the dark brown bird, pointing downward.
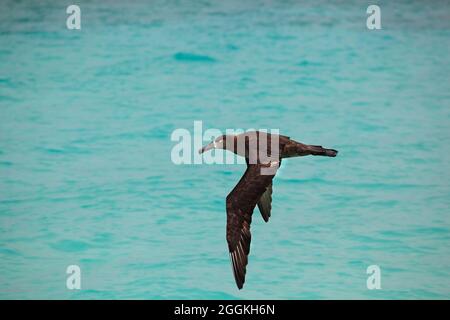
[[241, 180], [227, 196], [227, 242], [239, 289], [242, 289], [245, 282], [253, 210], [275, 176], [275, 172], [267, 174], [267, 171], [262, 170], [274, 165], [278, 166], [278, 163], [249, 164]]

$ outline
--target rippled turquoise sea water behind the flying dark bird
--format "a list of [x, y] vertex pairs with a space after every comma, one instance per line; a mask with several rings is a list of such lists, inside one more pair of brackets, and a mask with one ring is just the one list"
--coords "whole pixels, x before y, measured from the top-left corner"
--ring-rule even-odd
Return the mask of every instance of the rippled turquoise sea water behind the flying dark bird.
[[[2, 2], [0, 298], [450, 298], [448, 4], [242, 2]], [[283, 162], [241, 291], [194, 120], [339, 150]]]

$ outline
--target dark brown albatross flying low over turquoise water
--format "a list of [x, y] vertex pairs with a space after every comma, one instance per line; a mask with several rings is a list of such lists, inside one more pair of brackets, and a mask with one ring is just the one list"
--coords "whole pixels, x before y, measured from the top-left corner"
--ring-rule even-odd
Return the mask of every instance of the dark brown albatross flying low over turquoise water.
[[336, 157], [338, 151], [307, 145], [288, 136], [264, 131], [220, 135], [203, 146], [202, 154], [213, 149], [228, 150], [245, 157], [247, 169], [226, 197], [226, 240], [238, 289], [242, 289], [250, 253], [253, 211], [258, 207], [265, 222], [272, 210], [272, 180], [282, 159], [307, 155]]

